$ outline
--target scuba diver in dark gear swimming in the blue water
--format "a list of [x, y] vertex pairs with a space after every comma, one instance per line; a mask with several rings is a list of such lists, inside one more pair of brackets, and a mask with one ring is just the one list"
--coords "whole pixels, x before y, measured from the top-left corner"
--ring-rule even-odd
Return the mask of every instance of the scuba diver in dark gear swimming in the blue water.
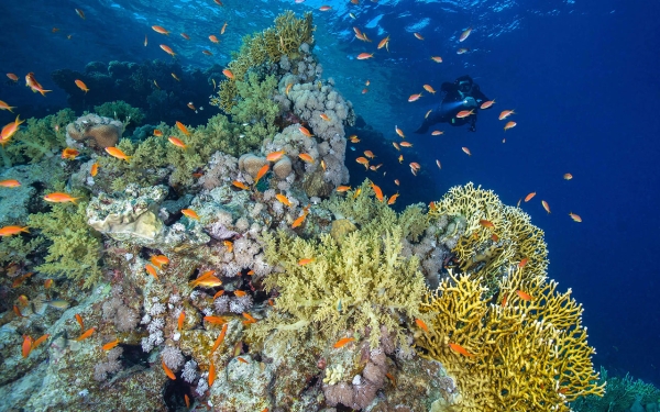
[[[433, 109], [415, 133], [424, 134], [436, 123], [449, 123], [452, 126], [462, 126], [470, 123], [470, 132], [476, 132], [476, 110], [490, 99], [482, 93], [479, 85], [468, 75], [461, 76], [453, 83], [446, 81], [440, 87], [444, 93], [438, 108]], [[457, 114], [462, 110], [474, 110], [474, 114], [459, 119]]]

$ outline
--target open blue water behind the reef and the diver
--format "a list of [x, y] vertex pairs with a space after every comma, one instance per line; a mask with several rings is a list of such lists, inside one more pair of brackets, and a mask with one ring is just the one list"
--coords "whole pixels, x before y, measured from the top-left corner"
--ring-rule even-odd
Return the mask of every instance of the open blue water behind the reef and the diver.
[[[6, 1], [0, 73], [15, 73], [20, 83], [3, 77], [0, 100], [18, 105], [23, 116], [53, 112], [66, 104], [66, 96], [50, 79], [52, 71], [82, 70], [92, 60], [169, 62], [158, 48], [162, 43], [178, 53], [184, 67], [223, 65], [242, 35], [271, 25], [282, 10], [315, 10], [316, 53], [324, 77], [336, 79], [356, 112], [385, 138], [394, 140], [395, 124], [402, 127], [415, 144], [406, 160], [420, 163], [421, 174], [435, 182], [400, 188], [399, 202], [420, 196], [430, 201], [468, 181], [495, 190], [508, 204], [536, 191], [522, 208], [546, 231], [550, 277], [561, 288], [571, 287], [584, 304], [596, 364], [660, 383], [659, 2], [328, 1], [333, 5], [328, 12], [318, 11], [323, 2], [310, 0], [223, 3], [89, 0], [32, 1], [28, 7]], [[79, 19], [75, 8], [87, 19]], [[219, 36], [224, 21], [227, 34]], [[170, 30], [169, 38], [152, 31], [153, 24]], [[54, 26], [59, 32], [52, 33]], [[358, 41], [352, 26], [374, 42]], [[457, 55], [458, 37], [468, 26], [474, 32], [460, 46], [471, 52]], [[193, 40], [186, 42], [180, 32]], [[425, 40], [415, 38], [414, 32]], [[211, 44], [209, 34], [221, 43]], [[355, 59], [374, 51], [387, 34], [389, 53], [382, 49], [373, 59]], [[215, 55], [205, 56], [202, 49]], [[444, 62], [436, 64], [431, 55]], [[55, 91], [46, 98], [31, 93], [23, 80], [29, 71]], [[463, 74], [476, 78], [497, 101], [480, 114], [477, 133], [443, 126], [443, 136], [414, 136], [411, 131], [438, 99], [425, 92], [408, 103], [408, 96], [422, 91], [424, 83], [439, 89], [442, 81]], [[362, 93], [366, 79], [371, 86]], [[196, 104], [207, 105], [200, 122], [216, 113], [207, 102]], [[516, 109], [513, 120], [518, 123], [506, 133], [497, 120], [504, 109]], [[11, 113], [0, 113], [0, 124], [11, 120]], [[163, 119], [170, 124], [175, 120]], [[471, 157], [462, 146], [472, 151]], [[349, 152], [348, 162], [358, 153]], [[442, 162], [442, 170], [435, 159]], [[562, 179], [564, 172], [574, 179]], [[541, 208], [541, 199], [549, 202], [551, 214]], [[572, 222], [571, 211], [584, 222]]]

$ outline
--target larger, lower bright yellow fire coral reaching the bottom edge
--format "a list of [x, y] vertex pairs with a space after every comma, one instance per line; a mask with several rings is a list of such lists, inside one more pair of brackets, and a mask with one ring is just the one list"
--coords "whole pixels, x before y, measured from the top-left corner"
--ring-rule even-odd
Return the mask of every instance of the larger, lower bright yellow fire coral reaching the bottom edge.
[[578, 397], [603, 396], [582, 305], [570, 289], [559, 293], [556, 282], [529, 278], [525, 270], [509, 270], [497, 304], [469, 276], [452, 276], [426, 296], [420, 310], [431, 319], [430, 331], [416, 346], [441, 361], [461, 390], [446, 410], [569, 411], [568, 402]]

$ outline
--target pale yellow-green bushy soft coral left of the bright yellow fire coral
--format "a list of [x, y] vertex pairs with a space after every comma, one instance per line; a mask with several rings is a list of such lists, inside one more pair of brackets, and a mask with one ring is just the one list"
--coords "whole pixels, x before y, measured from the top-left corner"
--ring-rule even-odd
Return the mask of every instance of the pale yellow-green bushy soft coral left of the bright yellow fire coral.
[[[354, 331], [369, 332], [372, 347], [380, 345], [381, 329], [406, 345], [400, 318], [419, 315], [424, 278], [416, 257], [402, 258], [402, 231], [356, 231], [339, 245], [330, 235], [318, 241], [290, 237], [279, 231], [266, 236], [266, 258], [284, 267], [265, 279], [267, 290], [277, 289], [279, 315], [260, 323], [261, 337], [268, 331], [318, 331], [321, 339], [334, 342]], [[312, 259], [307, 265], [300, 259]]]

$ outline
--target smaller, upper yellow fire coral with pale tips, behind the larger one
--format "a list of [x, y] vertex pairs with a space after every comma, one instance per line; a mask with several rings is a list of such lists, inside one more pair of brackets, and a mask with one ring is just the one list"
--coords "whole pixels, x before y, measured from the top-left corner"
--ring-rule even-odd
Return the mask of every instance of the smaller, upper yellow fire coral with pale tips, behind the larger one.
[[506, 268], [524, 259], [528, 278], [544, 277], [548, 249], [543, 231], [519, 208], [503, 204], [492, 190], [475, 188], [472, 182], [453, 187], [430, 208], [429, 215], [465, 219], [465, 232], [452, 252], [461, 271], [482, 279], [487, 296], [497, 292]]

